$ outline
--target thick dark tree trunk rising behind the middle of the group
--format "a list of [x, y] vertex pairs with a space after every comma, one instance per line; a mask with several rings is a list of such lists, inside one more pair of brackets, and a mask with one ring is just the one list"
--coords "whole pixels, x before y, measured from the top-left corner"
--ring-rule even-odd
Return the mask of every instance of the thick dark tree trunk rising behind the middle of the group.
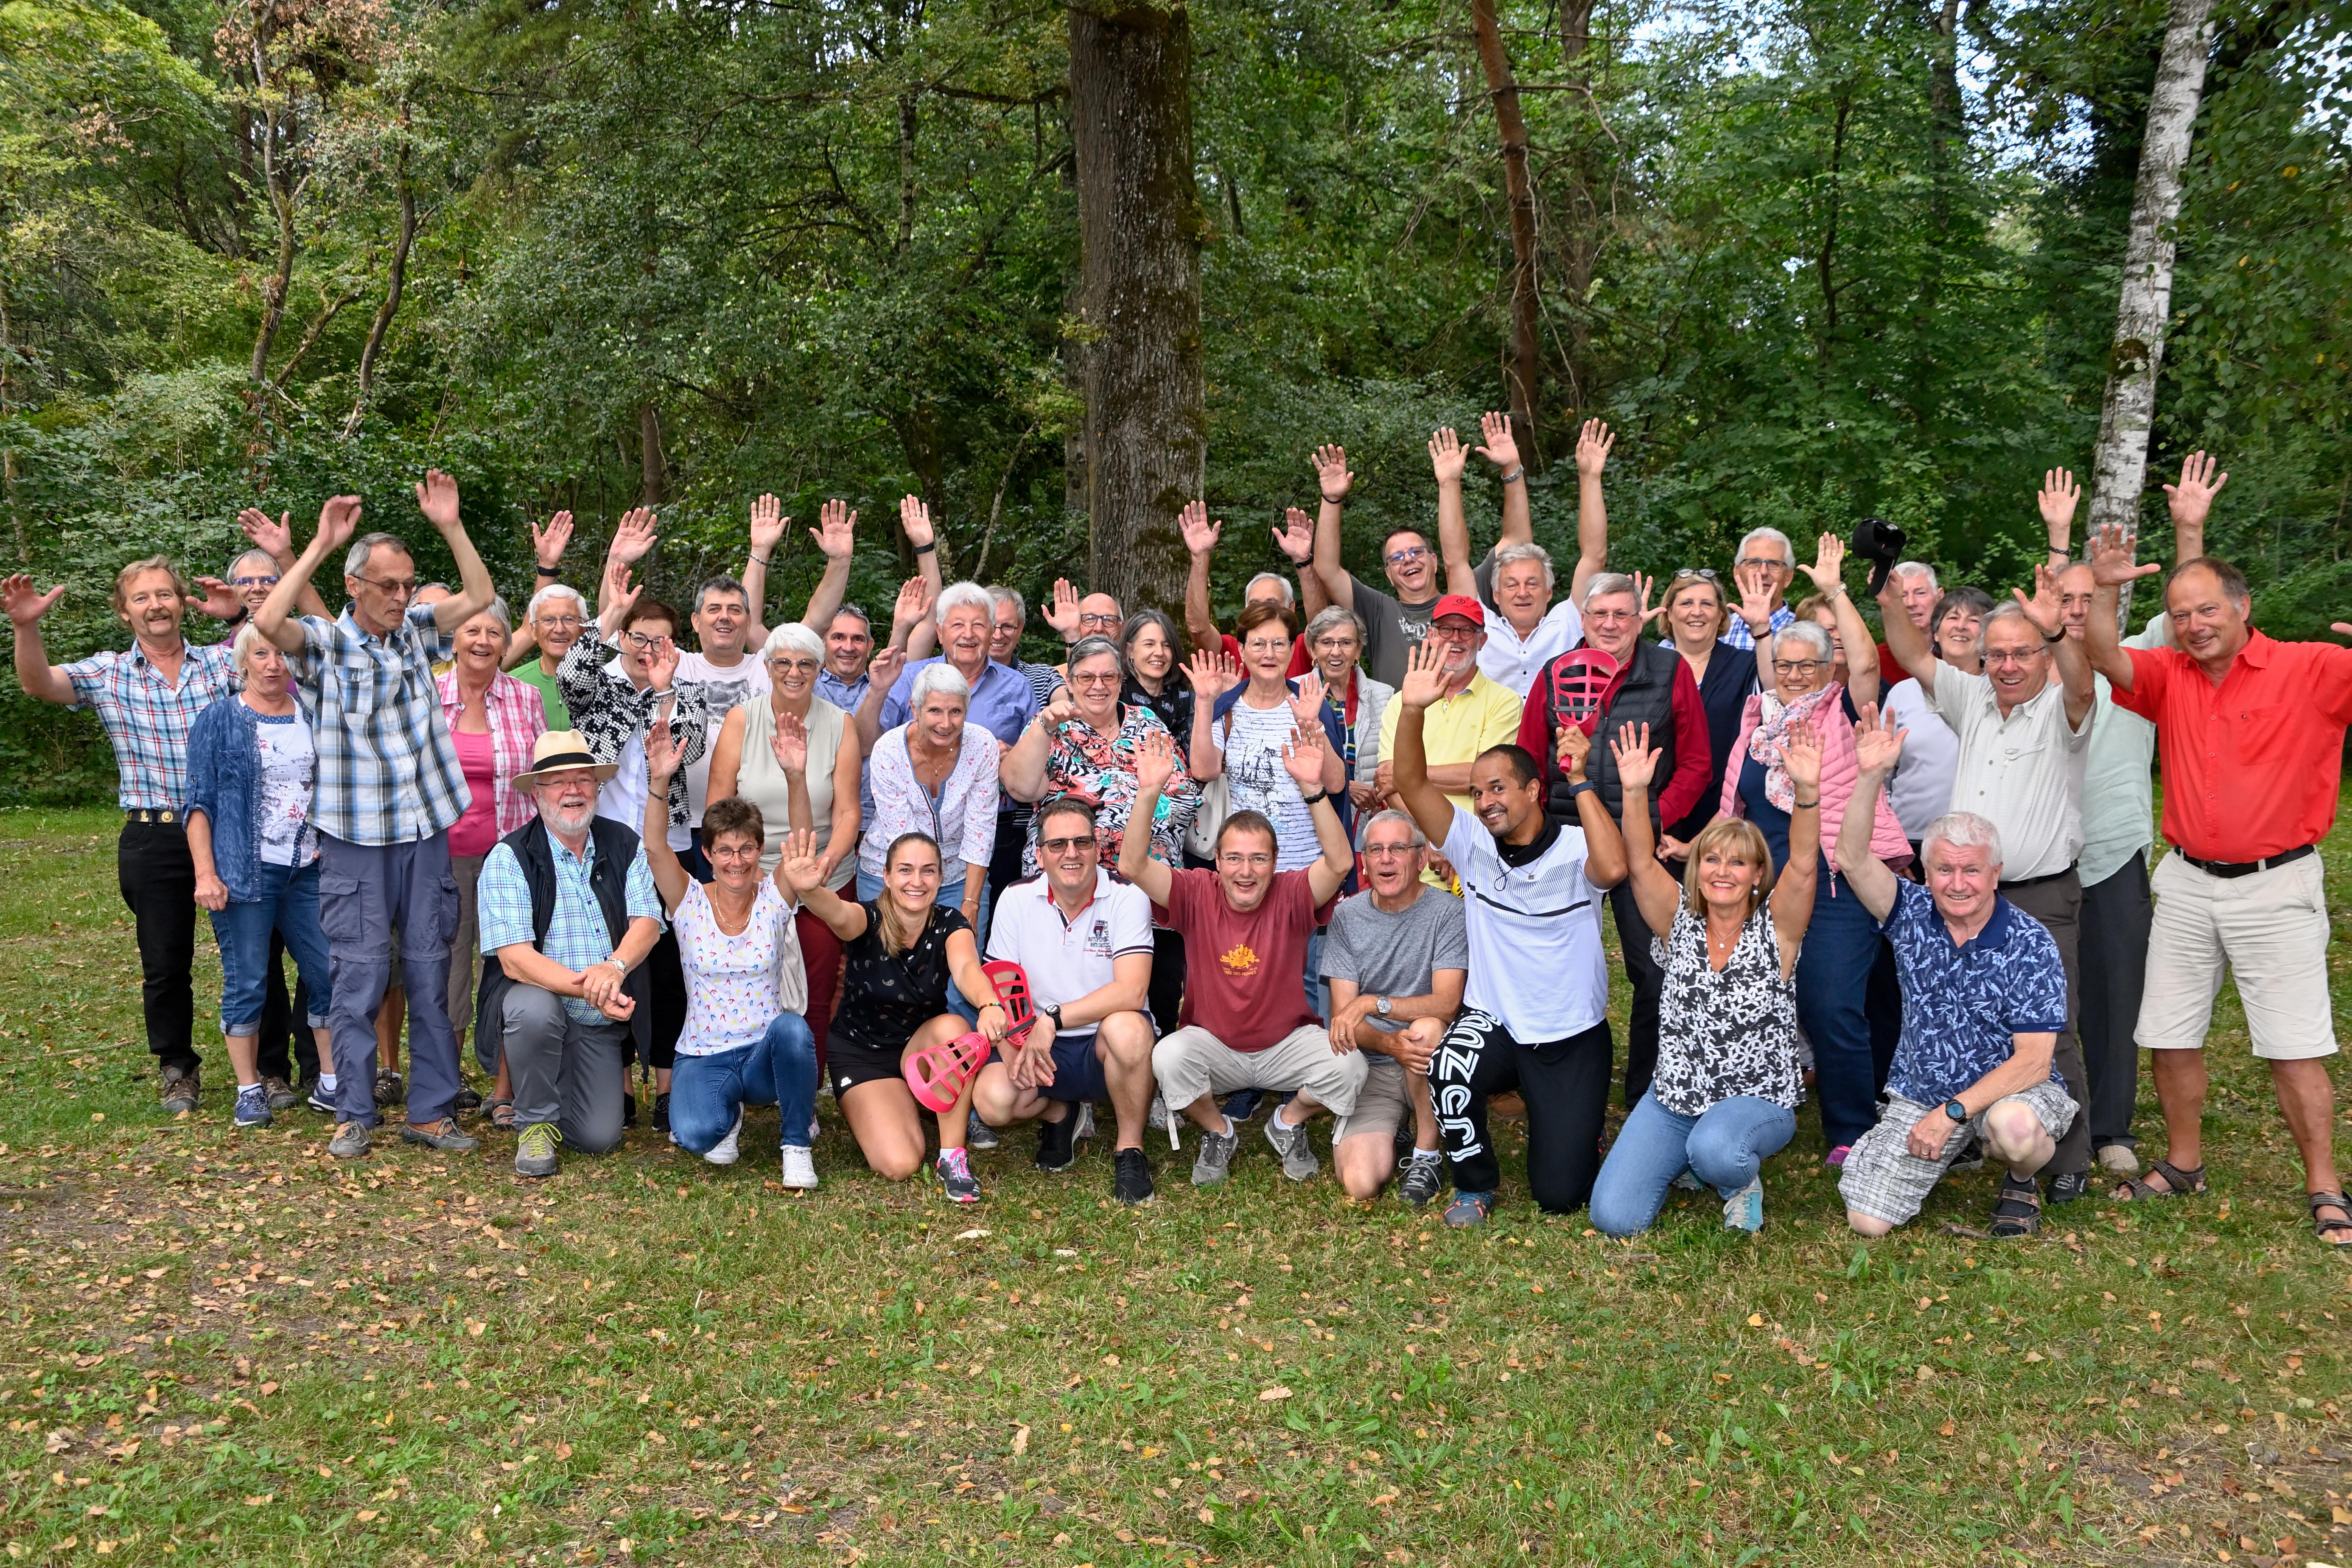
[[1096, 592], [1181, 614], [1176, 512], [1200, 498], [1200, 237], [1192, 21], [1167, 9], [1070, 12], [1087, 336], [1087, 517]]

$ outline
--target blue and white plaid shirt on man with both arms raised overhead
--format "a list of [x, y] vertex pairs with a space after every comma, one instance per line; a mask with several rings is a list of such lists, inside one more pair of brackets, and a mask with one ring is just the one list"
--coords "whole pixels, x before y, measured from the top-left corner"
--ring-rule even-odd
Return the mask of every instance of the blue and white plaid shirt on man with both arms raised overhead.
[[388, 635], [362, 632], [346, 609], [301, 618], [289, 656], [318, 743], [310, 823], [346, 844], [419, 844], [466, 816], [473, 792], [442, 719], [433, 665], [456, 639], [412, 604]]

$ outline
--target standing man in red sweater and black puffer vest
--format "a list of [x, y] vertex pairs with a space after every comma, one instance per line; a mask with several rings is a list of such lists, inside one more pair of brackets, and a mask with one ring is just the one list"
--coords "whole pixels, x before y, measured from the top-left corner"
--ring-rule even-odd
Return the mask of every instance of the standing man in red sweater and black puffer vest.
[[[1621, 724], [1649, 724], [1658, 741], [1658, 792], [1651, 797], [1651, 830], [1663, 832], [1663, 823], [1679, 823], [1710, 790], [1722, 788], [1715, 778], [1715, 750], [1708, 741], [1708, 710], [1698, 701], [1698, 682], [1691, 665], [1672, 644], [1646, 642], [1642, 637], [1642, 595], [1635, 581], [1621, 571], [1599, 571], [1585, 585], [1585, 642], [1618, 663], [1616, 677], [1602, 696], [1602, 717], [1592, 726], [1595, 736], [1613, 736]], [[1545, 661], [1536, 684], [1526, 689], [1526, 708], [1519, 712], [1519, 745], [1543, 764], [1548, 811], [1562, 823], [1576, 820], [1576, 799], [1566, 769], [1559, 759], [1559, 731], [1564, 719], [1552, 701], [1552, 670], [1562, 658], [1573, 658], [1576, 649]], [[1595, 745], [1585, 769], [1599, 788], [1609, 818], [1623, 811], [1618, 799], [1616, 757], [1606, 745]], [[1618, 926], [1618, 950], [1625, 957], [1625, 978], [1632, 980], [1632, 1013], [1625, 1020], [1625, 1110], [1632, 1110], [1649, 1088], [1651, 1070], [1658, 1065], [1658, 997], [1665, 992], [1665, 971], [1649, 954], [1649, 926], [1642, 907], [1632, 898], [1632, 879], [1621, 879], [1609, 889], [1609, 910]]]

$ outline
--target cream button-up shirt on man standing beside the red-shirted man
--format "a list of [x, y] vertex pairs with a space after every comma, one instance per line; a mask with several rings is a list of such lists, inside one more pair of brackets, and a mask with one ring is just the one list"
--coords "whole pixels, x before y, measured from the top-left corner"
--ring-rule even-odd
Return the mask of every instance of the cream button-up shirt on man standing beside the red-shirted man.
[[2030, 701], [2002, 717], [1992, 679], [1943, 661], [1933, 668], [1929, 708], [1959, 736], [1947, 811], [1973, 811], [2002, 830], [2002, 882], [2051, 877], [2082, 858], [2082, 773], [2091, 722], [2065, 722], [2058, 672]]

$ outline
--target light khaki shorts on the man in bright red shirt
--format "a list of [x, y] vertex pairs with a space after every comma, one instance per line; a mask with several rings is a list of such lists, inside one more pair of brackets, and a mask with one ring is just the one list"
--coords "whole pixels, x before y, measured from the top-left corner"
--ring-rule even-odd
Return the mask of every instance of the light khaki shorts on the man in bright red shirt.
[[2216, 877], [2169, 853], [2147, 884], [2157, 914], [2133, 1032], [2140, 1046], [2201, 1048], [2227, 969], [2237, 976], [2256, 1056], [2293, 1063], [2336, 1053], [2319, 856], [2251, 877]]

